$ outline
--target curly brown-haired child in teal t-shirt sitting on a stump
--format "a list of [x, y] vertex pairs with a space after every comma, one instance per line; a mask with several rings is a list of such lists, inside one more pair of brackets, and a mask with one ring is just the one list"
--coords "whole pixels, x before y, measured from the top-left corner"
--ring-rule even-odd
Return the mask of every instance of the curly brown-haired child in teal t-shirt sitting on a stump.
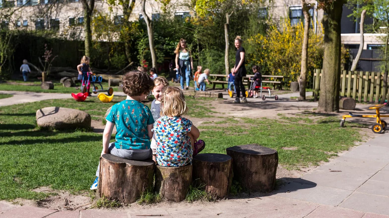
[[[107, 124], [103, 132], [103, 150], [101, 155], [111, 153], [130, 160], [145, 160], [152, 157], [150, 139], [152, 138], [152, 118], [149, 107], [142, 102], [153, 89], [154, 82], [145, 72], [131, 71], [123, 77], [123, 92], [127, 98], [112, 106], [107, 115]], [[115, 141], [110, 143], [112, 130], [116, 126]], [[97, 189], [97, 178], [91, 190]]]

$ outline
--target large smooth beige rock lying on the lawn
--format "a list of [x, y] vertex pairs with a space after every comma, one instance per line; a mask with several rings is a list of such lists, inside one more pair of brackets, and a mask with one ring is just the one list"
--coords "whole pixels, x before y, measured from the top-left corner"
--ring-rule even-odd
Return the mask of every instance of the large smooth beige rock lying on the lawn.
[[47, 107], [37, 110], [37, 124], [51, 129], [89, 129], [91, 115], [72, 108]]

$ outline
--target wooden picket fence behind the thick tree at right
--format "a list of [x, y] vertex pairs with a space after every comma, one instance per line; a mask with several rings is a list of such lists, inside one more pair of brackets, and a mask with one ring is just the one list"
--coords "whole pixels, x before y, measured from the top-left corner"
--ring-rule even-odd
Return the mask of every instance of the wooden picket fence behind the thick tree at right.
[[[320, 91], [321, 69], [314, 72], [314, 99]], [[389, 77], [387, 79], [389, 82]], [[340, 96], [347, 96], [356, 101], [375, 102], [382, 98], [384, 92], [383, 72], [364, 72], [343, 70], [340, 75]], [[386, 96], [389, 95], [387, 90]], [[388, 99], [388, 98], [385, 98]]]

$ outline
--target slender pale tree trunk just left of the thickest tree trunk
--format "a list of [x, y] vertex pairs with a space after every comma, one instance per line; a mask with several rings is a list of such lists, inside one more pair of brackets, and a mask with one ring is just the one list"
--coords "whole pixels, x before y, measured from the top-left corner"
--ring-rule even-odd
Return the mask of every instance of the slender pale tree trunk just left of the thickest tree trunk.
[[308, 39], [309, 39], [309, 24], [311, 21], [311, 16], [309, 14], [309, 9], [305, 0], [301, 0], [302, 10], [304, 14], [304, 38], [303, 38], [303, 47], [301, 51], [301, 73], [298, 80], [298, 85], [300, 87], [300, 100], [305, 100], [305, 86], [307, 85], [308, 77]]

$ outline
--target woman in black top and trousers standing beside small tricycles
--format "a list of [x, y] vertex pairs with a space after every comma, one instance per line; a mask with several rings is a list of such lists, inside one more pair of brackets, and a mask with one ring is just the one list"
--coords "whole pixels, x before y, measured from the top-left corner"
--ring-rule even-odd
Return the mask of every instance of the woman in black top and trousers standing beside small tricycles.
[[243, 77], [246, 76], [246, 67], [245, 67], [245, 50], [241, 46], [242, 45], [242, 39], [240, 36], [237, 36], [235, 38], [235, 47], [238, 49], [237, 53], [235, 54], [235, 66], [232, 75], [235, 75], [235, 91], [237, 92], [237, 98], [235, 99], [234, 103], [240, 103], [240, 91], [242, 91], [242, 101], [247, 102], [246, 95], [245, 95], [245, 88], [243, 85]]

